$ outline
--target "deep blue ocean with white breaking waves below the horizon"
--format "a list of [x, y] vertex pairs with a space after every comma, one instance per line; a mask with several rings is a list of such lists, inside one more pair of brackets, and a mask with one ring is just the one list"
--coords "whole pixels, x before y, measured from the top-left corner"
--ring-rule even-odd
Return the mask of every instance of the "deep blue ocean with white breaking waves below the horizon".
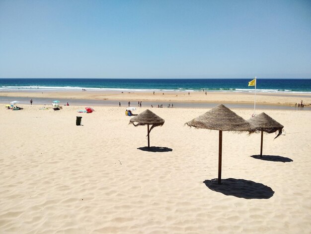
[[[0, 91], [254, 92], [252, 79], [0, 79]], [[260, 79], [256, 92], [311, 93], [311, 79]]]

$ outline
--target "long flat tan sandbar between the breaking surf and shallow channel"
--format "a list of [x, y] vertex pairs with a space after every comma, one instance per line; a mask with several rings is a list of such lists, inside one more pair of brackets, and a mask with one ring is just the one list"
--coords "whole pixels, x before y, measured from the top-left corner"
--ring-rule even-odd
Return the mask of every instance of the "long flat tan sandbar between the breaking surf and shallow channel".
[[[155, 101], [161, 102], [181, 102], [181, 103], [239, 103], [239, 104], [253, 104], [254, 93], [245, 92], [156, 92], [155, 95], [149, 92], [112, 92], [112, 91], [20, 91], [20, 92], [0, 92], [0, 97], [20, 97], [27, 99], [66, 99], [69, 102], [73, 99], [80, 100], [96, 100], [96, 101], [116, 101], [127, 104], [131, 101], [136, 106], [138, 101]], [[311, 105], [311, 94], [309, 93], [256, 93], [257, 104], [269, 104], [276, 106], [295, 106], [299, 103], [306, 106]]]

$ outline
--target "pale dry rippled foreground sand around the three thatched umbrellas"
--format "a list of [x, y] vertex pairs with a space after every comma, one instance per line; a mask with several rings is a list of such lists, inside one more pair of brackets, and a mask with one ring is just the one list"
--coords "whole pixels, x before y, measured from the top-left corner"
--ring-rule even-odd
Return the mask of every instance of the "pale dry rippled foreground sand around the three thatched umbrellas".
[[149, 152], [138, 149], [147, 126], [129, 125], [125, 108], [20, 106], [0, 108], [0, 233], [310, 233], [310, 111], [257, 110], [285, 126], [264, 134], [275, 161], [251, 157], [260, 134], [223, 132], [222, 178], [245, 185], [246, 199], [203, 183], [217, 178], [218, 131], [184, 123], [208, 109], [151, 109], [165, 119], [151, 146], [167, 148]]

